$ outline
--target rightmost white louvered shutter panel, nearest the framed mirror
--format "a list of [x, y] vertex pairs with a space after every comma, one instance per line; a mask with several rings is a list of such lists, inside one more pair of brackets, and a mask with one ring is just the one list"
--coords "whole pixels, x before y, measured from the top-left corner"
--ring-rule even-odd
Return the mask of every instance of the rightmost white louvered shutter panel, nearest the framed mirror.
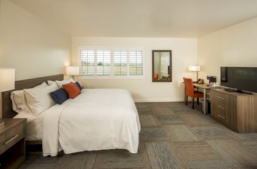
[[143, 75], [142, 50], [129, 50], [129, 75]]

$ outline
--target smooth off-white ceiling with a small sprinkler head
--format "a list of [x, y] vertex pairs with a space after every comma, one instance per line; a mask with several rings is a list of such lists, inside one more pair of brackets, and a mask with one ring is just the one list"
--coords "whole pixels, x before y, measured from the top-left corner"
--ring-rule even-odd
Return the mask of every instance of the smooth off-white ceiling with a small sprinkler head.
[[71, 36], [197, 38], [257, 17], [256, 0], [10, 1]]

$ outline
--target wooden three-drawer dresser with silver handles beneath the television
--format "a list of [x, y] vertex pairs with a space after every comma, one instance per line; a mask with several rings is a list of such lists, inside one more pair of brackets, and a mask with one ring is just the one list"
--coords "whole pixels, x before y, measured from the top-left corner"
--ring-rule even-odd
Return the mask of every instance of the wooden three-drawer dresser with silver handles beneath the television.
[[238, 133], [257, 132], [257, 95], [211, 89], [211, 115]]

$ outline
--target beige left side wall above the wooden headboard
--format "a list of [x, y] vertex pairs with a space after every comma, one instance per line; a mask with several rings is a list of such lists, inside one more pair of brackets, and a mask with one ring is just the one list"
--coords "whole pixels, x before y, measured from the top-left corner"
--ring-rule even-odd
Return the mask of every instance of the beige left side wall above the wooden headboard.
[[0, 68], [15, 68], [15, 80], [65, 73], [71, 37], [8, 0], [0, 7]]

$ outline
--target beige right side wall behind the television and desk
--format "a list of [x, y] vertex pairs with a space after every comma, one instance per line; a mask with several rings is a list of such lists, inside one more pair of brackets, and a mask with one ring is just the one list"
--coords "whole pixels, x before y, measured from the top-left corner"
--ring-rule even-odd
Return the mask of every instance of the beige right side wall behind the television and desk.
[[197, 52], [201, 79], [215, 75], [220, 83], [221, 66], [257, 67], [257, 18], [198, 38]]

